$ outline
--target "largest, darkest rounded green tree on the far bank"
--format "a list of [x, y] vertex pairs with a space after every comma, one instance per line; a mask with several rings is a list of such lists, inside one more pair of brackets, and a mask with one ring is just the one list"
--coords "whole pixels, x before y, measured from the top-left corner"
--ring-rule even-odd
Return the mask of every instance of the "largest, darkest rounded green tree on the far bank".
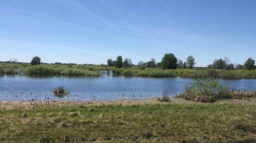
[[165, 53], [161, 61], [162, 69], [177, 69], [177, 58], [173, 53]]

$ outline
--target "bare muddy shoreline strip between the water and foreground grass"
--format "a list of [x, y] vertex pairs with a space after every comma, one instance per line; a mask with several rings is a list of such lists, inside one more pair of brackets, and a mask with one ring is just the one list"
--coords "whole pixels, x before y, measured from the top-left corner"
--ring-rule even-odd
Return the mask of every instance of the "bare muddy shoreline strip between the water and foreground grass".
[[195, 102], [185, 100], [182, 98], [169, 97], [170, 102], [157, 101], [156, 97], [145, 99], [133, 99], [133, 100], [116, 100], [116, 101], [0, 101], [0, 110], [15, 110], [15, 109], [34, 109], [34, 108], [49, 108], [49, 107], [61, 107], [61, 106], [99, 106], [99, 105], [168, 105], [168, 104], [242, 104], [242, 105], [256, 105], [256, 98], [249, 99], [222, 99], [216, 102]]

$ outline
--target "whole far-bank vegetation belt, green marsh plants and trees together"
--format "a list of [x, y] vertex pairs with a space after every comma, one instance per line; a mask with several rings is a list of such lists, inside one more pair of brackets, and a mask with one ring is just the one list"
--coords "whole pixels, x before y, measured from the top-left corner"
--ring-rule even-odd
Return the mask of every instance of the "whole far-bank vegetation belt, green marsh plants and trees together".
[[[11, 60], [10, 60], [11, 61]], [[173, 53], [164, 54], [162, 61], [155, 59], [148, 62], [132, 63], [132, 59], [117, 56], [116, 60], [108, 59], [108, 65], [76, 65], [76, 64], [46, 64], [35, 56], [31, 63], [17, 62], [0, 63], [0, 74], [29, 75], [86, 75], [99, 76], [100, 70], [113, 71], [114, 75], [145, 76], [145, 77], [187, 77], [187, 78], [256, 78], [255, 61], [249, 58], [244, 65], [231, 64], [228, 58], [217, 59], [207, 67], [195, 67], [195, 58], [190, 55], [186, 62], [179, 60]], [[17, 60], [16, 60], [17, 61]]]

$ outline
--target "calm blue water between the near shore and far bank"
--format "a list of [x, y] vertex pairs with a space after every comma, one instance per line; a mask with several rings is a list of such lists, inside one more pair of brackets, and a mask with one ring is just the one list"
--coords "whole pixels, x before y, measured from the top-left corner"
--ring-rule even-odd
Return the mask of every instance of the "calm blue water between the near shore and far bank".
[[[68, 100], [68, 101], [105, 101], [140, 99], [159, 97], [162, 90], [169, 95], [183, 91], [184, 85], [193, 79], [189, 78], [146, 78], [146, 77], [100, 77], [84, 76], [0, 76], [0, 100]], [[221, 82], [229, 84], [231, 88], [245, 88], [256, 90], [256, 79], [227, 80]], [[71, 95], [59, 98], [51, 94], [53, 89], [64, 86]]]

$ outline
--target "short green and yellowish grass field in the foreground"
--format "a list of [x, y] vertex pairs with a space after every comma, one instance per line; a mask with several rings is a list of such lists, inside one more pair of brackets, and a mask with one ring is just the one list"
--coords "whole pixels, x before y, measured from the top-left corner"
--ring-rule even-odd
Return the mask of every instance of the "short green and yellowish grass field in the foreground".
[[[26, 116], [25, 116], [26, 115]], [[224, 142], [256, 138], [256, 106], [65, 106], [0, 111], [1, 142]]]

